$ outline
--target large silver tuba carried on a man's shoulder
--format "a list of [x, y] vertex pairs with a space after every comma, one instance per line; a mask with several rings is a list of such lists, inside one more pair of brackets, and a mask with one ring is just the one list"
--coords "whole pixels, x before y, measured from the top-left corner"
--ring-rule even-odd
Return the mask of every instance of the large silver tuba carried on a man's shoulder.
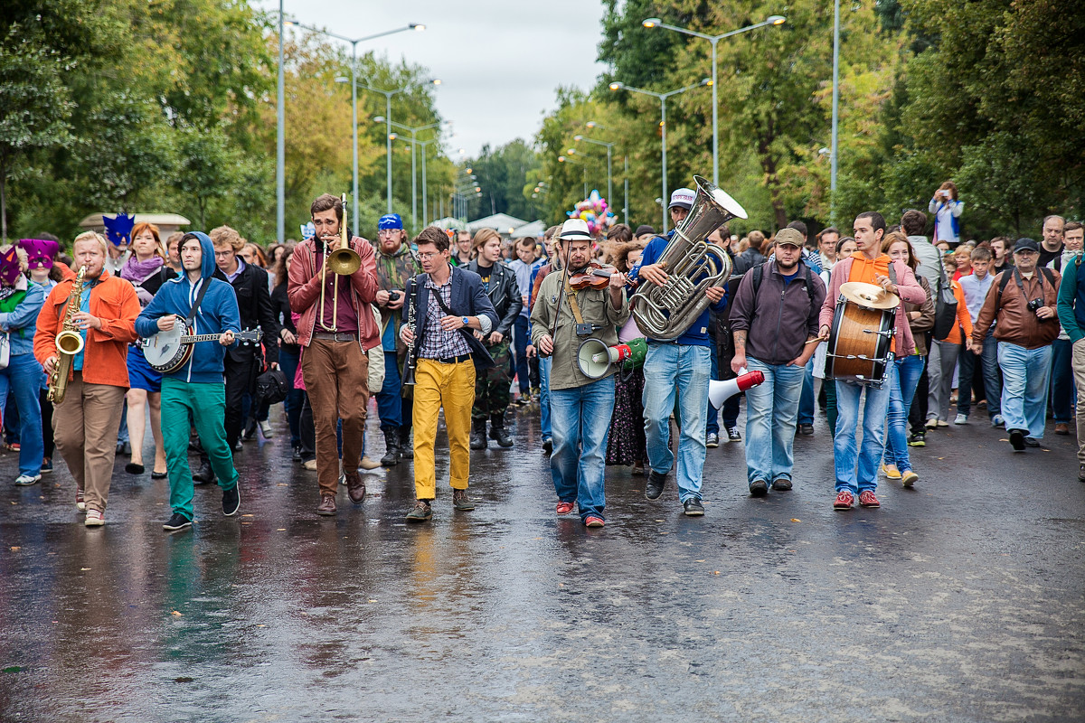
[[642, 281], [630, 299], [640, 331], [663, 341], [681, 336], [707, 308], [704, 291], [723, 286], [731, 275], [727, 251], [705, 238], [730, 219], [746, 217], [745, 209], [714, 183], [700, 176], [693, 181], [697, 196], [689, 216], [675, 227], [658, 261], [667, 272], [667, 283]]

